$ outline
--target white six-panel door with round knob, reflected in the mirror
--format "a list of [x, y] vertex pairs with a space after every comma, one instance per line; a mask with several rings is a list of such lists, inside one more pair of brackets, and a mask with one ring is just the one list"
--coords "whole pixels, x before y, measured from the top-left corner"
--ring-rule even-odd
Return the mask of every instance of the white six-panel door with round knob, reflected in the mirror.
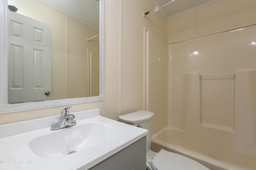
[[51, 25], [8, 11], [8, 103], [51, 100]]

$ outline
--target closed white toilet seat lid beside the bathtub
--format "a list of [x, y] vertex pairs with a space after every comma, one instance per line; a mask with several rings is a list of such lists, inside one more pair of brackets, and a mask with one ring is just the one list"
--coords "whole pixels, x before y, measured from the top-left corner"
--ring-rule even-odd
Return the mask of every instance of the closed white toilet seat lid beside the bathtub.
[[210, 170], [195, 160], [164, 149], [161, 149], [149, 163], [152, 170]]

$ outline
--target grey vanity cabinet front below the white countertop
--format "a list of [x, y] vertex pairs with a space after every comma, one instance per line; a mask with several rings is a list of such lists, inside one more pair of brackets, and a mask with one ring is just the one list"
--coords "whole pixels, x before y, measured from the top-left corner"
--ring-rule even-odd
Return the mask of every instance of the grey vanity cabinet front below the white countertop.
[[146, 170], [146, 136], [89, 170]]

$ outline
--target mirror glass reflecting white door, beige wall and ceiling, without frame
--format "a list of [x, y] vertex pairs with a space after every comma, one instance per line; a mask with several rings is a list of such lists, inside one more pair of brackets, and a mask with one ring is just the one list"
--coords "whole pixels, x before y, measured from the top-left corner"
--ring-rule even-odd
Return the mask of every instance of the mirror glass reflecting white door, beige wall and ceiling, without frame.
[[8, 0], [9, 104], [100, 96], [99, 1], [57, 2]]

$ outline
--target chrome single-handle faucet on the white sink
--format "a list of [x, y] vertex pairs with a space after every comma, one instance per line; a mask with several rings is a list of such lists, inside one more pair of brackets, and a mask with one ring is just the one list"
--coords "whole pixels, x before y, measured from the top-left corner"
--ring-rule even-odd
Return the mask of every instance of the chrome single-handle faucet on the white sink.
[[54, 123], [51, 125], [51, 130], [57, 130], [57, 129], [62, 129], [65, 127], [70, 127], [76, 125], [76, 121], [73, 120], [75, 118], [74, 115], [69, 114], [69, 109], [70, 107], [65, 107], [61, 113], [60, 113], [60, 121], [57, 123]]

